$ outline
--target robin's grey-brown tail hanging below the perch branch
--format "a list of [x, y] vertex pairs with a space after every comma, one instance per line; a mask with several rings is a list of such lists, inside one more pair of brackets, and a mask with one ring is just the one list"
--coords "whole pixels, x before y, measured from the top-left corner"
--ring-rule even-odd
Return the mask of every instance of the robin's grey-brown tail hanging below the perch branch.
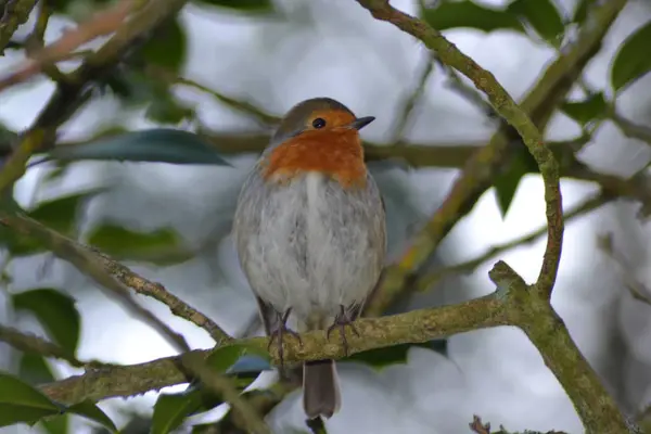
[[334, 360], [314, 360], [303, 365], [303, 408], [309, 419], [334, 414], [341, 393]]

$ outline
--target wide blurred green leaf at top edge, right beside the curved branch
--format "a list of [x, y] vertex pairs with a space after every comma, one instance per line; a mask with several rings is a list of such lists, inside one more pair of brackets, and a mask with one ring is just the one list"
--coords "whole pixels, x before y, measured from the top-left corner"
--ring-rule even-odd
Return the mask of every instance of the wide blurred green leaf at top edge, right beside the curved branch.
[[438, 2], [433, 9], [421, 10], [421, 16], [438, 31], [459, 27], [524, 31], [520, 21], [507, 10], [487, 8], [470, 0]]

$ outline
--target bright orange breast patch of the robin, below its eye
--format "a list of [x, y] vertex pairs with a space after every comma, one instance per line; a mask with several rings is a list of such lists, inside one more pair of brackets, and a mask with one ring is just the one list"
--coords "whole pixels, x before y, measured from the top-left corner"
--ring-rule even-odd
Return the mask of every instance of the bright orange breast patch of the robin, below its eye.
[[344, 188], [365, 187], [363, 148], [355, 130], [305, 131], [276, 148], [264, 163], [263, 176], [284, 182], [305, 171], [320, 171]]

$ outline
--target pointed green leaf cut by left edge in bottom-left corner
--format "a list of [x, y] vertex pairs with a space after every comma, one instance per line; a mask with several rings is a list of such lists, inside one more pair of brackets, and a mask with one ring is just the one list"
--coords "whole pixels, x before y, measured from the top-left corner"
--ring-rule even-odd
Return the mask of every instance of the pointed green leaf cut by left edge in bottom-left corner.
[[46, 395], [20, 379], [0, 371], [0, 427], [15, 423], [34, 424], [61, 408]]

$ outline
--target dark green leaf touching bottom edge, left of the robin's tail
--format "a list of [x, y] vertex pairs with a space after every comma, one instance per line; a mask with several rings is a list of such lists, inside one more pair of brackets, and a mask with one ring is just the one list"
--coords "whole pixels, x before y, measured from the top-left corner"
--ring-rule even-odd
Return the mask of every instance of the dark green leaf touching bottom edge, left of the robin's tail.
[[190, 394], [161, 394], [154, 405], [152, 434], [167, 434], [202, 406], [200, 391]]

